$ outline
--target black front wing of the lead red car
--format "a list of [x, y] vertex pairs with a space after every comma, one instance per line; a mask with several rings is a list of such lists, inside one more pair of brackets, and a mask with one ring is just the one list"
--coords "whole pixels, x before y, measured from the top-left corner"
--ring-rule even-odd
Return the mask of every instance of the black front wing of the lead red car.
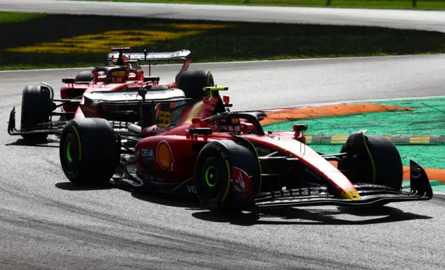
[[360, 200], [349, 200], [330, 193], [327, 187], [287, 189], [258, 193], [254, 202], [257, 207], [337, 205], [344, 207], [367, 207], [388, 202], [430, 200], [432, 189], [425, 170], [415, 161], [410, 161], [410, 191], [392, 189], [388, 186], [356, 183]]

